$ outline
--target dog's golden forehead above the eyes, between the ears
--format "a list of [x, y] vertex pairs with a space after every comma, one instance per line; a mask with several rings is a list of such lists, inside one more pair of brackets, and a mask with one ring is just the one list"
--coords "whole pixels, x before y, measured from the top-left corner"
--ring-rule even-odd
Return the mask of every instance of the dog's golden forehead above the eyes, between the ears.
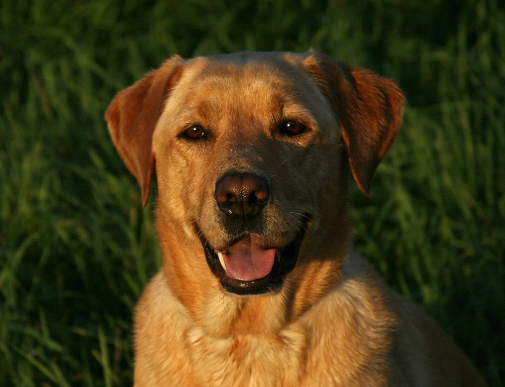
[[190, 123], [247, 114], [260, 121], [282, 114], [310, 123], [332, 120], [329, 102], [302, 58], [287, 53], [244, 52], [187, 62], [164, 115]]

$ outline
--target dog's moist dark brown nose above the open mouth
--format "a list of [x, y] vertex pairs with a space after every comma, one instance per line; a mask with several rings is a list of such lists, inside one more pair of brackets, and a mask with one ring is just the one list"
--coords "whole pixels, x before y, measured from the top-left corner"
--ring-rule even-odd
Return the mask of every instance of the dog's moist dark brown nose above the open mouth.
[[229, 174], [216, 183], [214, 197], [219, 208], [230, 216], [255, 215], [267, 204], [270, 185], [267, 179], [258, 175]]

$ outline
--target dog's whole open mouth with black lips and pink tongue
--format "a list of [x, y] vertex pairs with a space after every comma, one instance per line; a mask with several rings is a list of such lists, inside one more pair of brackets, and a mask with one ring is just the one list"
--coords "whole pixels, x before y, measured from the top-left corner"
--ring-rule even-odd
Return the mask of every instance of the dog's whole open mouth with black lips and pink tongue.
[[[197, 225], [195, 229], [204, 247], [209, 268], [220, 280], [223, 289], [243, 296], [278, 292], [282, 288], [286, 274], [296, 265], [306, 225], [300, 227], [291, 242], [282, 247], [272, 247], [260, 236], [244, 233], [224, 251], [211, 246]], [[246, 243], [249, 243], [249, 247]], [[252, 247], [253, 245], [256, 247]], [[237, 259], [234, 257], [234, 250], [244, 250], [248, 255], [244, 257], [242, 254], [242, 257]], [[247, 267], [241, 267], [241, 260], [245, 261], [243, 265]]]

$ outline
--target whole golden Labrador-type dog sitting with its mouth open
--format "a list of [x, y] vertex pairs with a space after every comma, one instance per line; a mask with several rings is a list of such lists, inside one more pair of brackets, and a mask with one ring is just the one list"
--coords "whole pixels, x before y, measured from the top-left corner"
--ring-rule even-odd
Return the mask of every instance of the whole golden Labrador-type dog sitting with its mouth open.
[[351, 251], [401, 124], [390, 80], [306, 53], [174, 56], [116, 95], [112, 140], [163, 266], [136, 307], [135, 387], [484, 386], [414, 303]]

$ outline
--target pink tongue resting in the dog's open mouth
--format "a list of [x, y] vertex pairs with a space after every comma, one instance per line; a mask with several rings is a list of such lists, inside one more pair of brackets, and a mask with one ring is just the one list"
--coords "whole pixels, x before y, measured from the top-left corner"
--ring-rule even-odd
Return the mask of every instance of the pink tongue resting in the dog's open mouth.
[[249, 234], [223, 252], [226, 273], [240, 281], [263, 278], [272, 270], [275, 253], [265, 239]]

